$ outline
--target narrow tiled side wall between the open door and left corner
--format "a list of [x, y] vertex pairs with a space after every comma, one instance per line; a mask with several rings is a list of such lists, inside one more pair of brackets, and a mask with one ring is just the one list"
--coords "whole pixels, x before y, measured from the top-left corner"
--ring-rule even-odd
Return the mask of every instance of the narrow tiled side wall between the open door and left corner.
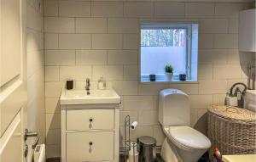
[[45, 142], [43, 0], [26, 2], [27, 128]]

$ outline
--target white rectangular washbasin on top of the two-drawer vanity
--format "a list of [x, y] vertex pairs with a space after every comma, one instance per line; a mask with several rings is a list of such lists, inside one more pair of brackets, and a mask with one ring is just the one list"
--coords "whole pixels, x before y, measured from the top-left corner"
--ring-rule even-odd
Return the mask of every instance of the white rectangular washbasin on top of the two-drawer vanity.
[[66, 90], [61, 92], [61, 104], [111, 104], [120, 103], [120, 97], [113, 89], [90, 90], [90, 95], [85, 90]]

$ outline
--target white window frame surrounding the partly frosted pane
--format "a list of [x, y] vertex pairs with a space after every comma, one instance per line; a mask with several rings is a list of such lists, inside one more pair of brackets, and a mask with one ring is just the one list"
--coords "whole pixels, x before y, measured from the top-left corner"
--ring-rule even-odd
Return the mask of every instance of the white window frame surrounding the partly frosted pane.
[[[186, 30], [186, 75], [187, 75], [187, 81], [183, 81], [183, 82], [197, 82], [197, 78], [196, 81], [192, 81], [191, 80], [191, 74], [192, 74], [192, 68], [191, 68], [191, 60], [192, 60], [192, 25], [193, 24], [198, 24], [196, 22], [187, 22], [187, 23], [175, 23], [175, 22], [141, 22], [140, 23], [140, 29], [139, 29], [139, 56], [138, 56], [138, 77], [139, 77], [139, 81], [141, 83], [162, 83], [162, 82], [181, 82], [178, 80], [178, 76], [173, 75], [174, 78], [176, 78], [174, 81], [146, 81], [143, 80], [143, 77], [149, 77], [146, 75], [142, 75], [141, 74], [141, 61], [142, 61], [142, 57], [141, 57], [141, 38], [142, 38], [142, 30], [143, 29], [148, 29], [148, 30], [157, 30], [157, 29], [183, 29]], [[197, 76], [198, 77], [198, 76]]]

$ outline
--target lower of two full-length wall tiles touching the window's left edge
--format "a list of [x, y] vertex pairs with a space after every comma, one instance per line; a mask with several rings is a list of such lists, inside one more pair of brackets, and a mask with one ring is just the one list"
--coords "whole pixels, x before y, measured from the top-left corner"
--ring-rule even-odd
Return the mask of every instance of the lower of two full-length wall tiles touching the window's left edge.
[[137, 64], [137, 50], [108, 50], [108, 64]]

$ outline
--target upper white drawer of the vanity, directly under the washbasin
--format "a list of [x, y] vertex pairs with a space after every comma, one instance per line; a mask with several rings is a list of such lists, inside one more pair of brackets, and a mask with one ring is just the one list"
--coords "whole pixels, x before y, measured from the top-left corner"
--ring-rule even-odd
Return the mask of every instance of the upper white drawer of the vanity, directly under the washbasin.
[[114, 109], [67, 109], [67, 130], [114, 128]]

